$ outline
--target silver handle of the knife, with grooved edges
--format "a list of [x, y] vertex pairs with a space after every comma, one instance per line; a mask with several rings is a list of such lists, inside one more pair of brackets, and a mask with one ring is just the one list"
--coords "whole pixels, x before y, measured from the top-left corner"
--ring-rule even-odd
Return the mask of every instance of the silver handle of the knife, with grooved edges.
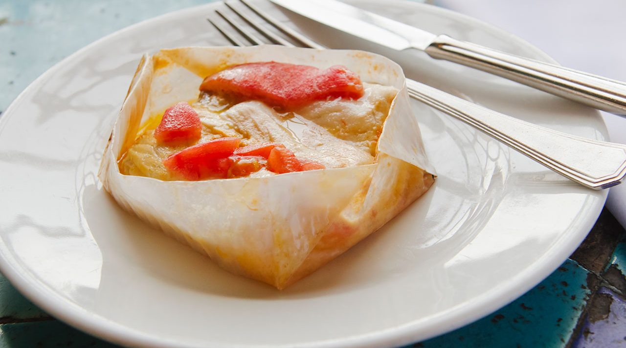
[[626, 115], [626, 83], [439, 35], [426, 53], [616, 115]]

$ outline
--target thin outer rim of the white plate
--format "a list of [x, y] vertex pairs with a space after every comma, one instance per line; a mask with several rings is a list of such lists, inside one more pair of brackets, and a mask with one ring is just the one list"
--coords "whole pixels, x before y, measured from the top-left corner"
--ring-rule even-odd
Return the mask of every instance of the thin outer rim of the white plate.
[[[511, 34], [504, 29], [498, 28], [497, 26], [493, 26], [492, 24], [483, 22], [480, 19], [476, 19], [466, 14], [452, 11], [450, 9], [440, 8], [431, 4], [415, 3], [409, 0], [394, 1], [398, 4], [402, 4], [402, 6], [404, 7], [413, 7], [414, 9], [428, 8], [429, 11], [433, 11], [435, 13], [443, 13], [444, 16], [448, 16], [449, 18], [462, 18], [465, 21], [480, 25], [484, 28], [489, 28], [493, 31], [497, 31], [500, 34], [506, 34], [515, 39], [516, 42], [523, 43], [525, 45], [525, 49], [535, 51], [536, 54], [540, 55], [546, 61], [551, 63], [557, 63], [555, 59], [553, 59], [548, 54], [546, 54], [533, 44], [529, 43], [525, 39], [520, 38], [515, 34]], [[69, 56], [51, 66], [51, 68], [46, 70], [43, 74], [41, 74], [38, 78], [31, 82], [9, 104], [8, 108], [6, 108], [6, 110], [4, 111], [3, 116], [0, 117], [0, 133], [3, 131], [4, 127], [8, 123], [7, 120], [13, 113], [13, 109], [18, 107], [17, 105], [21, 102], [21, 100], [25, 98], [26, 95], [31, 93], [31, 90], [38, 88], [39, 85], [47, 81], [48, 76], [56, 73], [57, 70], [63, 68], [63, 66], [65, 66], [66, 64], [71, 64], [72, 61], [79, 59], [81, 56], [88, 53], [88, 51], [90, 51], [93, 47], [105, 44], [106, 42], [111, 41], [128, 31], [133, 31], [136, 28], [146, 25], [146, 23], [148, 22], [158, 23], [162, 21], [167, 21], [170, 18], [184, 16], [187, 13], [193, 13], [195, 11], [203, 11], [205, 9], [213, 8], [215, 6], [218, 6], [220, 3], [222, 3], [222, 1], [214, 1], [198, 6], [178, 9], [177, 11], [172, 11], [170, 13], [165, 13], [159, 16], [155, 16], [153, 18], [145, 19], [138, 23], [131, 24], [130, 26], [126, 26], [125, 28], [114, 31], [113, 33], [107, 34], [106, 36], [103, 36], [102, 38], [97, 39], [90, 44], [87, 44], [83, 48], [78, 49], [78, 51], [69, 54]], [[598, 118], [598, 120], [600, 121], [599, 126], [602, 126], [602, 129], [598, 129], [598, 131], [600, 131], [603, 136], [607, 136], [607, 126], [605, 124], [605, 121], [602, 119], [599, 111], [597, 110], [595, 110], [595, 117]], [[476, 297], [475, 299], [473, 299], [471, 304], [463, 305], [462, 308], [453, 307], [446, 310], [445, 312], [440, 312], [434, 315], [431, 319], [431, 322], [425, 325], [419, 321], [409, 322], [408, 324], [394, 327], [393, 329], [377, 330], [375, 332], [371, 332], [365, 335], [342, 337], [342, 339], [317, 340], [315, 342], [307, 342], [300, 346], [379, 347], [383, 345], [402, 345], [416, 342], [417, 340], [422, 341], [435, 337], [437, 335], [446, 334], [451, 330], [458, 329], [459, 327], [462, 327], [466, 324], [474, 322], [475, 320], [485, 317], [485, 315], [488, 315], [494, 310], [504, 307], [521, 295], [525, 294], [525, 292], [532, 289], [533, 287], [535, 287], [536, 284], [540, 283], [548, 275], [552, 274], [552, 272], [554, 272], [564, 262], [564, 260], [567, 260], [568, 256], [571, 255], [574, 250], [576, 250], [578, 245], [580, 245], [582, 240], [587, 236], [588, 232], [593, 227], [595, 220], [597, 220], [600, 212], [602, 212], [602, 208], [604, 207], [607, 195], [608, 190], [603, 190], [602, 199], [598, 200], [598, 203], [596, 203], [595, 205], [591, 205], [590, 207], [588, 207], [588, 210], [590, 212], [587, 214], [587, 218], [583, 223], [581, 223], [581, 227], [579, 228], [580, 230], [587, 230], [587, 232], [577, 235], [577, 237], [580, 238], [570, 238], [569, 240], [565, 240], [565, 242], [558, 250], [551, 250], [552, 253], [550, 253], [550, 257], [546, 256], [548, 255], [548, 253], [542, 255], [540, 259], [548, 258], [548, 260], [546, 260], [545, 262], [537, 261], [533, 263], [530, 267], [527, 267], [524, 272], [519, 274], [518, 278], [516, 279], [517, 282], [514, 284], [516, 288], [515, 290], [512, 290], [510, 292], [503, 291], [507, 288], [514, 287], [513, 285], [511, 285], [513, 284], [513, 282], [511, 282], [511, 284], [502, 284], [496, 288], [493, 288], [504, 288], [500, 290], [501, 294], [500, 297], [498, 297], [498, 299], [500, 300], [494, 300], [491, 296], [492, 291], [489, 291], [485, 292], [485, 294], [481, 295], [480, 297]], [[557, 245], [557, 242], [559, 242], [563, 238], [565, 238], [565, 236], [560, 235], [560, 237], [555, 240], [554, 244]], [[4, 242], [2, 240], [0, 240], [0, 243], [4, 246]], [[199, 347], [199, 345], [190, 344], [189, 342], [185, 342], [183, 344], [182, 342], [178, 342], [172, 339], [157, 338], [152, 335], [145, 334], [140, 330], [131, 329], [129, 327], [126, 327], [125, 325], [118, 324], [113, 320], [102, 317], [101, 315], [93, 314], [93, 312], [86, 310], [80, 305], [76, 305], [68, 299], [65, 299], [57, 292], [49, 289], [48, 286], [41, 284], [41, 282], [39, 282], [36, 277], [30, 277], [28, 270], [21, 268], [19, 263], [16, 262], [15, 258], [9, 257], [9, 259], [7, 256], [8, 255], [5, 255], [4, 253], [0, 253], [0, 272], [2, 272], [2, 274], [11, 282], [11, 284], [16, 289], [18, 289], [19, 292], [24, 295], [24, 297], [26, 297], [28, 300], [31, 300], [31, 302], [36, 304], [38, 307], [41, 307], [41, 309], [44, 309], [48, 314], [53, 315], [54, 318], [57, 318], [64, 323], [73, 326], [76, 329], [82, 330], [83, 332], [95, 335], [96, 337], [100, 337], [101, 339], [107, 340], [108, 342], [113, 342], [115, 344], [129, 344], [141, 347]], [[18, 270], [21, 272], [18, 272]], [[442, 325], [444, 326], [444, 329], [441, 329]], [[439, 329], [434, 330], [433, 333], [434, 327], [439, 327]], [[431, 333], [424, 334], [424, 332]], [[250, 347], [250, 345], [232, 344], [226, 342], [212, 342], [211, 344], [212, 345], [210, 346], [215, 345], [216, 347]], [[289, 344], [283, 345], [286, 346]], [[277, 347], [277, 345], [267, 344], [259, 344], [257, 346]]]

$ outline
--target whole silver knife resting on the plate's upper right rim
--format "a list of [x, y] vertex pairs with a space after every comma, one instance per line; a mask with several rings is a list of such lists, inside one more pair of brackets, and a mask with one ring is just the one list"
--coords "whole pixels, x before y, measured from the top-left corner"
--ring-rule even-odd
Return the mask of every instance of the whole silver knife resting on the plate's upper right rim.
[[402, 51], [480, 69], [593, 108], [626, 115], [626, 83], [436, 35], [336, 0], [270, 0], [332, 28]]

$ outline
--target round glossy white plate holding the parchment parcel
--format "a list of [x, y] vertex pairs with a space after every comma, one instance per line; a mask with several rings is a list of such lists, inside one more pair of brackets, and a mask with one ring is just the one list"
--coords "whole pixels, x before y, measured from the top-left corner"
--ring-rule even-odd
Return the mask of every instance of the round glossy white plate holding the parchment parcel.
[[[550, 60], [510, 34], [439, 8], [359, 4]], [[573, 185], [415, 103], [439, 174], [423, 198], [282, 292], [218, 269], [121, 210], [96, 178], [140, 55], [225, 44], [205, 21], [215, 6], [151, 19], [81, 49], [31, 84], [0, 120], [1, 270], [59, 319], [113, 342], [152, 347], [400, 345], [467, 324], [523, 294], [555, 270], [595, 222], [605, 192]], [[319, 26], [315, 31], [309, 33], [327, 44], [364, 44]], [[583, 106], [423, 53], [387, 53], [411, 64], [409, 76], [464, 98], [606, 138], [598, 113]]]

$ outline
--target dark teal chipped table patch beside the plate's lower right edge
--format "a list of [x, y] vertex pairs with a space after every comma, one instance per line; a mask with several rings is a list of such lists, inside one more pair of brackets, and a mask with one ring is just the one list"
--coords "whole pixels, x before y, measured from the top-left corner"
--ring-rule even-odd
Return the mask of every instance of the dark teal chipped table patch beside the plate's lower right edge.
[[591, 294], [588, 275], [577, 262], [567, 260], [511, 304], [413, 347], [564, 347]]

